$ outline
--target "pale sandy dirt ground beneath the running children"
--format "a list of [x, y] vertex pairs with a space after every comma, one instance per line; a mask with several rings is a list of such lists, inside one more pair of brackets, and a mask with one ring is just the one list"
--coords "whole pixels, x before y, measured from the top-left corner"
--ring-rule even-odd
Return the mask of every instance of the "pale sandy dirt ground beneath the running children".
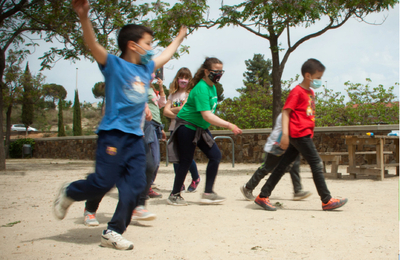
[[[204, 189], [205, 164], [199, 164], [202, 181], [196, 193], [183, 193], [187, 207], [167, 205], [173, 168], [162, 163], [156, 183], [163, 194], [150, 199], [157, 214], [151, 222], [130, 225], [124, 237], [135, 248], [118, 251], [101, 248], [118, 200], [110, 191], [98, 210], [100, 226], [83, 225], [84, 203], [74, 203], [66, 218], [53, 217], [52, 202], [65, 181], [84, 178], [93, 161], [26, 159], [8, 160], [0, 172], [0, 259], [397, 259], [399, 253], [398, 183], [395, 169], [384, 181], [371, 177], [327, 179], [335, 197], [349, 202], [325, 212], [308, 166], [302, 166], [305, 190], [313, 195], [293, 201], [286, 174], [271, 196], [282, 204], [275, 212], [243, 199], [239, 187], [259, 166], [221, 164], [215, 191], [227, 197], [222, 205], [199, 205]], [[340, 166], [342, 173], [346, 172]], [[186, 180], [189, 185], [190, 177]], [[263, 184], [262, 181], [261, 184]], [[254, 194], [261, 189], [261, 184]]]

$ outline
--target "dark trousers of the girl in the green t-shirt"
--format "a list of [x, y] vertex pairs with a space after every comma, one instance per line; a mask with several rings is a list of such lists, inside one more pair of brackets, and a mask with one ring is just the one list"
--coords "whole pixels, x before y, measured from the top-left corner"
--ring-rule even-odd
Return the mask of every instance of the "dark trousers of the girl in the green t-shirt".
[[[210, 131], [207, 129], [207, 133], [212, 137]], [[186, 126], [180, 126], [176, 130], [176, 140], [178, 143], [179, 152], [179, 165], [175, 171], [174, 187], [171, 194], [180, 193], [181, 187], [185, 181], [186, 174], [193, 162], [194, 152], [196, 144], [193, 144], [193, 139], [196, 131], [187, 128]], [[221, 151], [219, 150], [216, 143], [212, 147], [209, 147], [203, 138], [197, 142], [197, 147], [207, 156], [208, 164], [206, 169], [206, 193], [213, 192], [213, 186], [215, 178], [217, 177], [219, 163], [221, 161]]]

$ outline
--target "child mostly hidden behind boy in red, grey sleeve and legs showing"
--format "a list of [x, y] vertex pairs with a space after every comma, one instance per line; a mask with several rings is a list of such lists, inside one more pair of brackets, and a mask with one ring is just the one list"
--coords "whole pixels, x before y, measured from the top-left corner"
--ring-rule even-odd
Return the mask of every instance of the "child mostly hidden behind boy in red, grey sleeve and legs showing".
[[[279, 147], [282, 137], [282, 113], [278, 115], [275, 121], [274, 129], [268, 137], [267, 143], [264, 146], [265, 160], [264, 163], [259, 167], [251, 176], [250, 180], [240, 187], [240, 191], [247, 200], [254, 201], [253, 190], [257, 187], [260, 181], [267, 176], [274, 168], [278, 165], [282, 158], [282, 154], [285, 153]], [[296, 160], [292, 165], [288, 165], [285, 172], [290, 173], [293, 183], [293, 200], [302, 200], [311, 195], [311, 192], [303, 191], [300, 182], [300, 155], [297, 156]]]

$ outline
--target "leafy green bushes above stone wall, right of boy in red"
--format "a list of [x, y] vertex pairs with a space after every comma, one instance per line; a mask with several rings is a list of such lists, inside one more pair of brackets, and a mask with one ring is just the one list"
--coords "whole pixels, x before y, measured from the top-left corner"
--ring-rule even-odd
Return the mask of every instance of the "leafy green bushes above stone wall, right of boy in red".
[[[349, 101], [340, 92], [324, 89], [316, 93], [316, 126], [398, 124], [399, 102], [394, 86], [345, 83]], [[395, 84], [396, 86], [399, 83]]]

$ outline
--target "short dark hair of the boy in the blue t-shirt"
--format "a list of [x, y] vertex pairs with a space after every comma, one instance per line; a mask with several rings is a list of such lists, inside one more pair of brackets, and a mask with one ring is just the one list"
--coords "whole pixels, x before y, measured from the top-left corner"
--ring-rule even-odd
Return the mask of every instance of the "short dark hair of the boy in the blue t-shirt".
[[145, 33], [153, 36], [153, 31], [146, 26], [137, 24], [124, 25], [118, 33], [118, 47], [121, 50], [122, 54], [124, 54], [126, 51], [128, 41], [134, 41], [137, 43], [140, 39], [143, 38], [143, 35]]

